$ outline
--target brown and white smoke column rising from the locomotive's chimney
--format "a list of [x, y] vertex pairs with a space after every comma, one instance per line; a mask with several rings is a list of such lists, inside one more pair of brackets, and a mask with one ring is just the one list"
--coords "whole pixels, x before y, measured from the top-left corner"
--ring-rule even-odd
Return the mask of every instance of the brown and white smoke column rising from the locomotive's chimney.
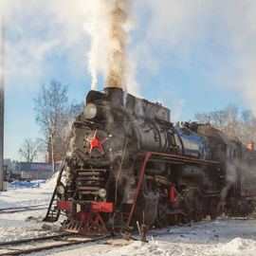
[[126, 87], [130, 6], [130, 0], [96, 2], [92, 27], [86, 28], [91, 37], [88, 70], [92, 76], [92, 89], [97, 88], [100, 71], [105, 77], [105, 87]]

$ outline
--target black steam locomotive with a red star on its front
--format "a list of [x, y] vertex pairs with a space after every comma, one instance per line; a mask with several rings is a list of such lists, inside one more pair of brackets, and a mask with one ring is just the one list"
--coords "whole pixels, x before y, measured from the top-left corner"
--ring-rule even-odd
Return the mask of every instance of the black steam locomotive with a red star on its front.
[[208, 124], [174, 125], [170, 116], [120, 88], [90, 91], [45, 221], [64, 212], [64, 230], [106, 234], [253, 211], [256, 152]]

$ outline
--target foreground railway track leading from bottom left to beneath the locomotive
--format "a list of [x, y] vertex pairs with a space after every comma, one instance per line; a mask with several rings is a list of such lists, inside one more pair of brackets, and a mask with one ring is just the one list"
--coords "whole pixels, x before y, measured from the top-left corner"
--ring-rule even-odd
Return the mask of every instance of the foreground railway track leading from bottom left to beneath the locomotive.
[[111, 236], [84, 237], [84, 235], [64, 233], [47, 237], [9, 241], [0, 243], [0, 255], [23, 255], [54, 248], [93, 243], [109, 237]]

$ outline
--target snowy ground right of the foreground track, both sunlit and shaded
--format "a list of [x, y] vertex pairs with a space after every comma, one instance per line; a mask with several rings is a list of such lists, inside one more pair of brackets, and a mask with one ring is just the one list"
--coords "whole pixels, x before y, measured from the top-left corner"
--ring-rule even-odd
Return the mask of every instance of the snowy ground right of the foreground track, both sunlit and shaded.
[[[157, 235], [156, 235], [157, 233]], [[48, 255], [256, 255], [256, 220], [215, 220], [148, 232], [149, 243], [110, 240]], [[42, 255], [42, 254], [41, 254]]]

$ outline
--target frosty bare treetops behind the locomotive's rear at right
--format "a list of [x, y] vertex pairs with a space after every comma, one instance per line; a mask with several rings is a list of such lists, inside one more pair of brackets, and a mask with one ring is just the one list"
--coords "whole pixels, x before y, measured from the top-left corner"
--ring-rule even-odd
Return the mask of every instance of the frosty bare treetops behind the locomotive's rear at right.
[[238, 107], [233, 104], [222, 110], [196, 113], [194, 119], [198, 123], [209, 123], [231, 139], [239, 140], [245, 145], [256, 142], [256, 119], [250, 111], [239, 112]]

